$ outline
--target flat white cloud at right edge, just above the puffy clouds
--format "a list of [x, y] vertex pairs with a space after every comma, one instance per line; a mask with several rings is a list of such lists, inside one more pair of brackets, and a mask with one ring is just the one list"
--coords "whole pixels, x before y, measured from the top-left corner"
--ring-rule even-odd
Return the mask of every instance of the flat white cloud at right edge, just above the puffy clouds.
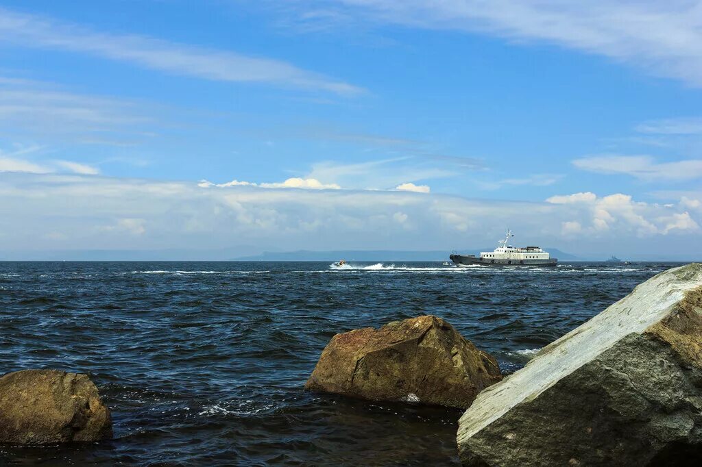
[[694, 180], [702, 177], [702, 159], [658, 163], [651, 156], [607, 154], [576, 159], [581, 170], [604, 174], [624, 174], [640, 180]]

